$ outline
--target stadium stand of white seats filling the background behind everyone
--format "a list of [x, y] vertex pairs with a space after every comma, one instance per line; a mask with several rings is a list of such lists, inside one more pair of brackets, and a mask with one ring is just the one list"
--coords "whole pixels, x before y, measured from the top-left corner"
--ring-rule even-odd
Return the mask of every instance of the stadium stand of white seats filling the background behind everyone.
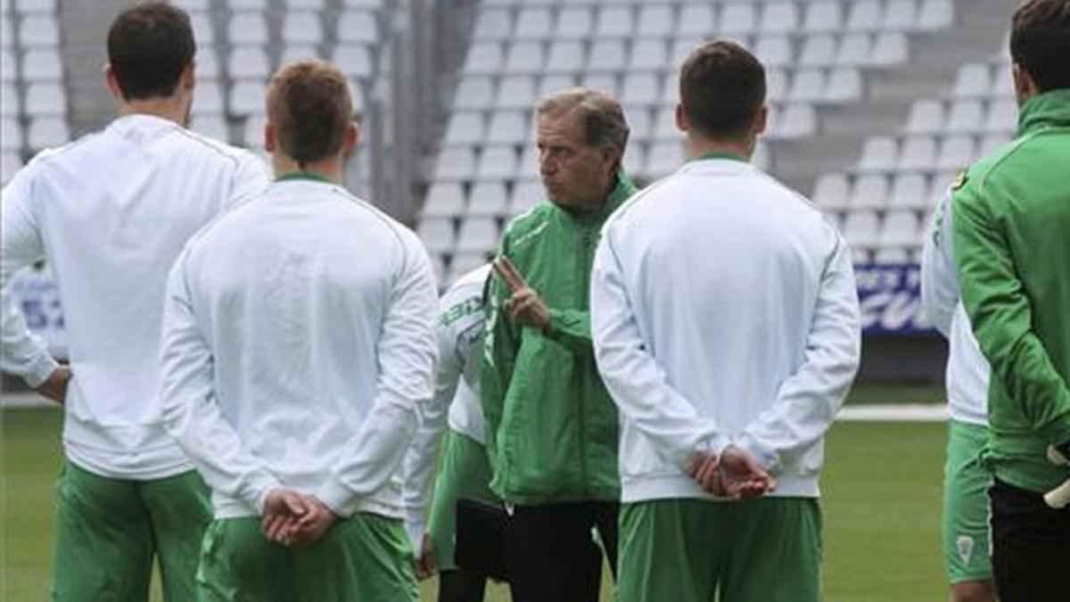
[[[192, 127], [254, 149], [262, 146], [264, 85], [280, 61], [335, 60], [362, 112], [386, 75], [388, 32], [408, 4], [178, 3], [190, 11], [199, 42]], [[1006, 42], [1005, 4], [454, 0], [449, 6], [464, 9], [455, 16], [459, 67], [446, 74], [453, 84], [431, 124], [441, 134], [419, 147], [422, 209], [398, 216], [417, 222], [444, 282], [478, 262], [507, 219], [542, 200], [532, 105], [576, 84], [621, 99], [632, 129], [629, 172], [646, 182], [672, 171], [683, 161], [675, 70], [696, 44], [722, 36], [767, 65], [770, 131], [756, 163], [809, 193], [843, 227], [859, 264], [914, 262], [935, 195], [1012, 134], [1010, 70], [992, 54]], [[121, 5], [85, 0], [58, 11], [56, 0], [2, 2], [4, 181], [41, 148], [110, 117], [100, 32]], [[368, 157], [361, 159], [367, 176]]]

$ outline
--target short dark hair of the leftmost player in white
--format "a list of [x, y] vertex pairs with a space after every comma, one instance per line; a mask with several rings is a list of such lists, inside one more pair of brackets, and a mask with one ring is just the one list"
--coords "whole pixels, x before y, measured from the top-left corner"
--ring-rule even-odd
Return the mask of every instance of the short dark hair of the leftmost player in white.
[[108, 62], [127, 101], [173, 94], [196, 52], [189, 15], [165, 2], [126, 9], [108, 30]]

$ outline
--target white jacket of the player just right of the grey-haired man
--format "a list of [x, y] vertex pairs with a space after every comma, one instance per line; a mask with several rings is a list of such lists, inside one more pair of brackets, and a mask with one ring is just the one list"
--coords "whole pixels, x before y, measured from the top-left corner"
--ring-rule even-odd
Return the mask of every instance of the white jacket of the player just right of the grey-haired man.
[[810, 201], [740, 160], [686, 164], [606, 224], [591, 313], [623, 501], [709, 499], [684, 467], [729, 443], [771, 495], [819, 495], [860, 331], [847, 245]]

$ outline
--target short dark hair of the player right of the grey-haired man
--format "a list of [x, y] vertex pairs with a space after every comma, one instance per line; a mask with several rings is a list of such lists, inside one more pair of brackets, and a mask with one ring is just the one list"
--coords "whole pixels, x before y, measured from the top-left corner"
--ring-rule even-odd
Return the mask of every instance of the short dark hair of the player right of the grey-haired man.
[[703, 44], [681, 67], [679, 101], [700, 134], [714, 140], [738, 138], [765, 104], [765, 67], [734, 42]]

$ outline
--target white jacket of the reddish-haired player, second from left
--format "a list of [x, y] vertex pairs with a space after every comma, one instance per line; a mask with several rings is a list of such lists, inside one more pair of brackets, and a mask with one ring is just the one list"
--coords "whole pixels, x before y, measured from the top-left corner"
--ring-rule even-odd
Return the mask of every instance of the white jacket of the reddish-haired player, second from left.
[[194, 237], [168, 283], [160, 412], [216, 516], [284, 485], [402, 518], [435, 306], [416, 236], [328, 182], [277, 181]]

